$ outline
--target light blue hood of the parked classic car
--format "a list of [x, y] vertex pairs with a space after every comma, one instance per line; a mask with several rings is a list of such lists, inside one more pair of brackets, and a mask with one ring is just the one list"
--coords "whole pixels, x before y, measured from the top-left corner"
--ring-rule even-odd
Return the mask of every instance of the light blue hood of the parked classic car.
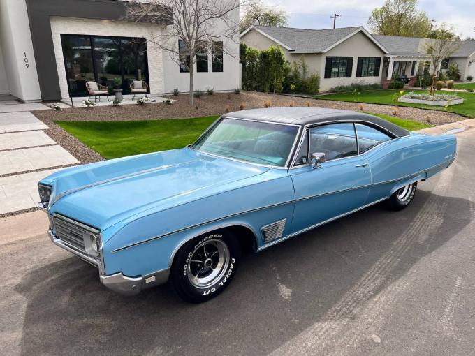
[[101, 230], [148, 209], [155, 212], [219, 193], [225, 184], [269, 169], [192, 149], [133, 156], [84, 168], [45, 179], [53, 183], [50, 209]]

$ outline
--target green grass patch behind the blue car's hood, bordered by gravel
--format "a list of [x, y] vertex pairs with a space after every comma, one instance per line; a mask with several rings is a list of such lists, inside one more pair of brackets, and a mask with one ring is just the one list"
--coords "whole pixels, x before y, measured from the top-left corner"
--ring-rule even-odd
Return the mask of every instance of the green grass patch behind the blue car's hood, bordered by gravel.
[[185, 147], [217, 118], [54, 122], [104, 158], [117, 158]]

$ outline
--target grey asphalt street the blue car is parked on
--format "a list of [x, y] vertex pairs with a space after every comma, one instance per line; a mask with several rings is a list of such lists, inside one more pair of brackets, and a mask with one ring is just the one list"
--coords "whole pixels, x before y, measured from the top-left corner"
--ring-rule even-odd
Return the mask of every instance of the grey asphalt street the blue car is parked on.
[[52, 246], [41, 212], [0, 222], [4, 355], [473, 355], [475, 128], [402, 212], [371, 207], [248, 255], [193, 305], [122, 297]]

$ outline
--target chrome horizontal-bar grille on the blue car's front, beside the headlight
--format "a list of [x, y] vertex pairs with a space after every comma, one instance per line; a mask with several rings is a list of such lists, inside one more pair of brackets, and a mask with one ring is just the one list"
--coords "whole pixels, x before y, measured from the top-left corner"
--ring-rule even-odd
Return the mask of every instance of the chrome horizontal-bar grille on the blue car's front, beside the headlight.
[[64, 216], [55, 214], [53, 216], [54, 228], [56, 229], [56, 237], [62, 242], [79, 249], [86, 251], [85, 238], [89, 235], [98, 234], [97, 230], [89, 228], [87, 225], [78, 223]]

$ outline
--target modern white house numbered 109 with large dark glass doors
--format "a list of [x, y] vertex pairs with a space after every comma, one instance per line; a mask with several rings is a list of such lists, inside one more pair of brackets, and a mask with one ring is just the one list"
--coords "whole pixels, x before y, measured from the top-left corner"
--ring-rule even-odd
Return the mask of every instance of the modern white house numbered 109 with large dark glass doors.
[[[147, 82], [150, 94], [187, 92], [189, 73], [156, 45], [167, 24], [124, 20], [126, 2], [0, 0], [0, 94], [25, 102], [58, 101], [87, 96], [86, 82], [112, 89], [117, 79], [124, 94], [133, 80]], [[231, 17], [238, 22], [238, 8]], [[226, 50], [219, 52], [220, 46]], [[195, 64], [194, 83], [202, 90], [239, 87], [237, 32], [235, 41], [213, 38], [210, 51]]]

